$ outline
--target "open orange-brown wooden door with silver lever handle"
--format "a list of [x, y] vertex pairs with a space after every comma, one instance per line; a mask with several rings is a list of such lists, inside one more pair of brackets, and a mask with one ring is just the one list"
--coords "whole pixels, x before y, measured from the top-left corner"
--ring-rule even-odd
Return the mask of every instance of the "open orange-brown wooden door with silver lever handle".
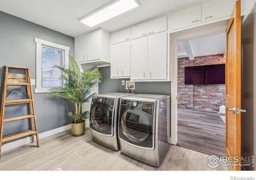
[[[241, 15], [236, 1], [226, 28], [226, 156], [241, 156]], [[240, 166], [230, 166], [240, 170]]]

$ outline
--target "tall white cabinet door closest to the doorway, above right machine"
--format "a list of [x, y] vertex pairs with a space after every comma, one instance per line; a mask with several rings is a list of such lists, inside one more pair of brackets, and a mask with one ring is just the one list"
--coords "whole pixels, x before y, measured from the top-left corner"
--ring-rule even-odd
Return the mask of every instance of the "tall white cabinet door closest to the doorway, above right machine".
[[167, 32], [148, 36], [148, 80], [167, 78]]

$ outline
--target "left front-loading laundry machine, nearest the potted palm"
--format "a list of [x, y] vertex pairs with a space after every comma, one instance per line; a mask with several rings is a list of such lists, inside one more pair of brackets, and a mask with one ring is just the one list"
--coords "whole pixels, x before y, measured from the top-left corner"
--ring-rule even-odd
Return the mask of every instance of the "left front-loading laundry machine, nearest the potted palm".
[[95, 94], [90, 108], [92, 140], [108, 148], [119, 150], [117, 135], [118, 105], [120, 97], [128, 93]]

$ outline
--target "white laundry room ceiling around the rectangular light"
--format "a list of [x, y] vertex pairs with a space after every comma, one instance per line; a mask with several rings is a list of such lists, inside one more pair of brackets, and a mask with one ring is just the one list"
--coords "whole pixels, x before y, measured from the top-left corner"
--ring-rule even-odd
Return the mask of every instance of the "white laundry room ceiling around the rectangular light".
[[78, 37], [100, 27], [116, 31], [202, 0], [138, 0], [140, 6], [92, 28], [78, 20], [112, 0], [0, 0], [0, 11]]

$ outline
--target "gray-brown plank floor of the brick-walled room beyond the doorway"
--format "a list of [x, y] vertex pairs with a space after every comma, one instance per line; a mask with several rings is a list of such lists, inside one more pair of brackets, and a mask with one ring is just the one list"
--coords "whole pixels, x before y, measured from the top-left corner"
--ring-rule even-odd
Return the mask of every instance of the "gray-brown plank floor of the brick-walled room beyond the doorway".
[[178, 108], [177, 145], [204, 154], [225, 156], [225, 124], [220, 114]]

